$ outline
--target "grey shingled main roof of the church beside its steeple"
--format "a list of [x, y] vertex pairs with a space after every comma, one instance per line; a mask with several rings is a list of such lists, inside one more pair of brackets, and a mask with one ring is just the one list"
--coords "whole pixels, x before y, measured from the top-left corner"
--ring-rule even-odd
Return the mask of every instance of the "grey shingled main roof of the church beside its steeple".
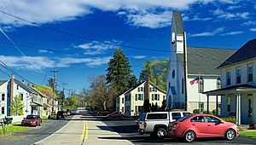
[[[217, 67], [223, 63], [236, 49], [212, 49], [188, 47], [188, 74], [217, 74]], [[177, 59], [183, 63], [183, 54], [178, 54]]]

